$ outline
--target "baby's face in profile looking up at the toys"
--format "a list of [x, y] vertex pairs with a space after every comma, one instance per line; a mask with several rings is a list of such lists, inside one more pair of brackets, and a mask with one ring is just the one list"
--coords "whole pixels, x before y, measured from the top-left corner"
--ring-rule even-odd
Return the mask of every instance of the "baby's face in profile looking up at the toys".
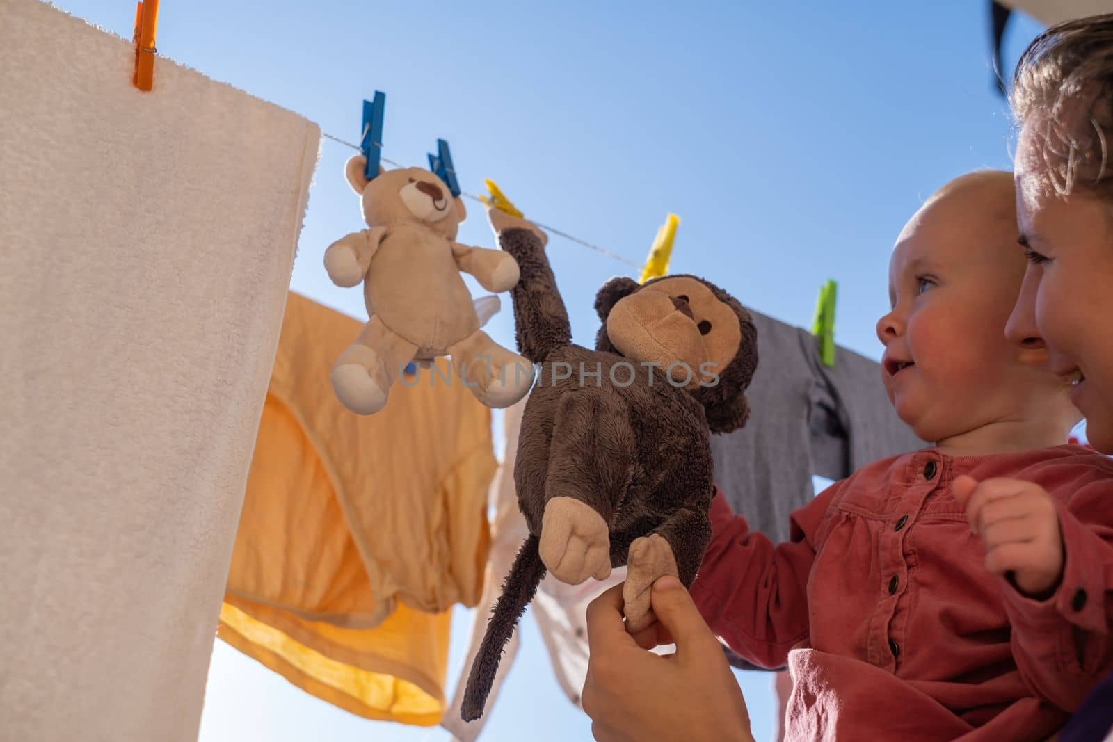
[[1011, 178], [979, 175], [929, 201], [897, 240], [877, 335], [889, 399], [924, 441], [1009, 419], [1048, 375], [1005, 338], [1025, 268], [1016, 235]]

